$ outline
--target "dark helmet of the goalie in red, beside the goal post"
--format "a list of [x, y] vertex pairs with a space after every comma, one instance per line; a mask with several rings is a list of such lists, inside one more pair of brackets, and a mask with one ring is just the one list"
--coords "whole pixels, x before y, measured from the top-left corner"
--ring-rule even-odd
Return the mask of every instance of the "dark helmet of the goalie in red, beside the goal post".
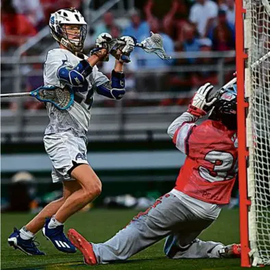
[[221, 90], [208, 119], [221, 121], [229, 130], [237, 129], [237, 86]]

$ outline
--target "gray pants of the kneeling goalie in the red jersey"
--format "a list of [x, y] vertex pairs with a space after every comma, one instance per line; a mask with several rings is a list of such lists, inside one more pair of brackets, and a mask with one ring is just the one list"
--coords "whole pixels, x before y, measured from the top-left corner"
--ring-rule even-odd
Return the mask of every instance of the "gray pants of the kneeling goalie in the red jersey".
[[93, 244], [93, 250], [97, 262], [105, 264], [126, 260], [167, 236], [164, 252], [169, 258], [219, 258], [221, 243], [196, 239], [213, 221], [201, 219], [169, 193], [110, 240]]

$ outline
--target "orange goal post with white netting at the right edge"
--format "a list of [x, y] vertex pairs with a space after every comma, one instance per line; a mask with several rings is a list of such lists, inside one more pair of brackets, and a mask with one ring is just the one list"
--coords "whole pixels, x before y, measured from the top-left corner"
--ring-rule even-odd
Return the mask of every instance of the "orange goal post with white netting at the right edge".
[[270, 265], [270, 3], [236, 0], [241, 266]]

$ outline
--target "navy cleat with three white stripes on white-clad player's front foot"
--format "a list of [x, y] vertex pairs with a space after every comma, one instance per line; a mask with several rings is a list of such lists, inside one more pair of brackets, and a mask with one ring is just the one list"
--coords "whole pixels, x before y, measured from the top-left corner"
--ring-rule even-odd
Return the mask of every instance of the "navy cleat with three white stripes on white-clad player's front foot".
[[50, 220], [51, 219], [46, 219], [45, 225], [42, 229], [43, 235], [47, 240], [51, 241], [59, 251], [75, 253], [77, 250], [76, 247], [71, 243], [71, 241], [69, 241], [69, 238], [64, 235], [64, 225], [49, 229], [48, 225]]

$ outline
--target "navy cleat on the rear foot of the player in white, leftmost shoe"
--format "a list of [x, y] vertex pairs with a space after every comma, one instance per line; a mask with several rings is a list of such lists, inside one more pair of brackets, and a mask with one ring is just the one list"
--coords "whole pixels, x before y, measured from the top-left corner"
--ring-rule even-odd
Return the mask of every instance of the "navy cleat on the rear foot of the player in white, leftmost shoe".
[[10, 234], [8, 238], [8, 244], [14, 249], [19, 249], [27, 255], [45, 255], [44, 252], [40, 251], [37, 246], [39, 243], [35, 241], [34, 238], [29, 240], [24, 240], [20, 236], [20, 231], [14, 228], [14, 232]]

